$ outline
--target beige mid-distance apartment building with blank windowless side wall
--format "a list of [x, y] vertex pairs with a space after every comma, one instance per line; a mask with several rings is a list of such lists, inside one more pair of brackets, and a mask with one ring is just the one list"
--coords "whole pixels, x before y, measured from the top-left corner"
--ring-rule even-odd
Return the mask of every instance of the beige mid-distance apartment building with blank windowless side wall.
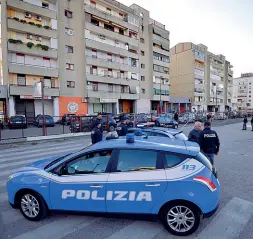
[[231, 110], [232, 68], [203, 44], [177, 44], [171, 49], [171, 96], [191, 98], [192, 111]]

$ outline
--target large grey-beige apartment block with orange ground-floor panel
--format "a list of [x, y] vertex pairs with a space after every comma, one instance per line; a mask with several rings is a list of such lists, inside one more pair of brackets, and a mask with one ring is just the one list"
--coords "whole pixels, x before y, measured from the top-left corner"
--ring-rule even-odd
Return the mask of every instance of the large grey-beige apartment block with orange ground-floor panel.
[[8, 115], [168, 112], [170, 41], [149, 11], [112, 0], [2, 0]]

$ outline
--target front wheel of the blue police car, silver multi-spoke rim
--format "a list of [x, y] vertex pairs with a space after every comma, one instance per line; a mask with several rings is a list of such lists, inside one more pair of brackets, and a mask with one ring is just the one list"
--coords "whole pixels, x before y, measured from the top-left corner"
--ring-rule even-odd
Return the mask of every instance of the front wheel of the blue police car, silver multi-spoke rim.
[[27, 191], [19, 200], [20, 211], [26, 219], [39, 221], [47, 215], [47, 205], [39, 194]]

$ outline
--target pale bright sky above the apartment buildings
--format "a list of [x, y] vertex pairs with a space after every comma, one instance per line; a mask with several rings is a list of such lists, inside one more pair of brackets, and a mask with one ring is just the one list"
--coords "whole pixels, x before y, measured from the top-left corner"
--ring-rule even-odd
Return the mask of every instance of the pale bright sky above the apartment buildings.
[[253, 0], [118, 0], [135, 3], [166, 25], [173, 47], [204, 44], [234, 66], [234, 77], [253, 72]]

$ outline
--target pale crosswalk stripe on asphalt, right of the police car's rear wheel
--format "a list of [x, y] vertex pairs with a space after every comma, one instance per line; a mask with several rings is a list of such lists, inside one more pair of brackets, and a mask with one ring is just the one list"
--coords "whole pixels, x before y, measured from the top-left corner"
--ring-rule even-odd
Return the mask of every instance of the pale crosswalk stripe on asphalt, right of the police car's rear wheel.
[[197, 239], [237, 238], [252, 215], [253, 203], [235, 197], [199, 233]]

